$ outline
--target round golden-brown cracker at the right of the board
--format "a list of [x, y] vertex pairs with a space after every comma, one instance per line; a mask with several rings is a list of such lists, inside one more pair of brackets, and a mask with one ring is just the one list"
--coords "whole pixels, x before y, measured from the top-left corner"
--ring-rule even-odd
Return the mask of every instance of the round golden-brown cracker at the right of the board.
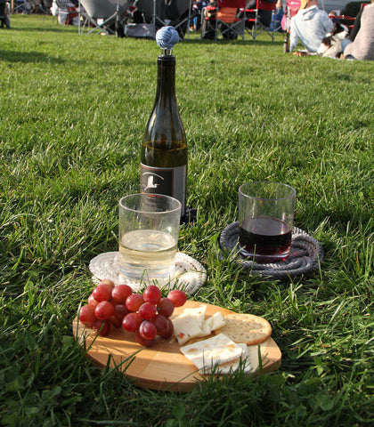
[[225, 325], [219, 334], [227, 335], [233, 342], [256, 345], [266, 341], [272, 334], [270, 323], [253, 314], [232, 313], [224, 316]]

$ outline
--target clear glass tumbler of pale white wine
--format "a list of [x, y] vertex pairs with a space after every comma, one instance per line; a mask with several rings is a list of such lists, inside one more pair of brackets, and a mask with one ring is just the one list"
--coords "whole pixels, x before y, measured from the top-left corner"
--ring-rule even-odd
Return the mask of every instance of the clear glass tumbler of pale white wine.
[[181, 207], [160, 194], [119, 200], [119, 268], [125, 279], [162, 285], [174, 277]]

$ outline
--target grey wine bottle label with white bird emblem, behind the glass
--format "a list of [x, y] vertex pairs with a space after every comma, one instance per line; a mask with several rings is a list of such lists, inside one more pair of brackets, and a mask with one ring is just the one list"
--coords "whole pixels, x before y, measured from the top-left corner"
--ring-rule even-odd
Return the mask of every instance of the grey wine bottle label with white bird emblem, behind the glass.
[[186, 165], [177, 167], [153, 167], [141, 163], [141, 192], [158, 193], [175, 197], [185, 211]]

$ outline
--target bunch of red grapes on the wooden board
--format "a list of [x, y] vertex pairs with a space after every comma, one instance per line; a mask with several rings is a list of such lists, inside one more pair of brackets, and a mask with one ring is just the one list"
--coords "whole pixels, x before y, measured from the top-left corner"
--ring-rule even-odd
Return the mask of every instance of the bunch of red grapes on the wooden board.
[[104, 279], [79, 310], [79, 320], [102, 336], [109, 334], [112, 326], [122, 326], [135, 334], [136, 342], [149, 347], [156, 335], [169, 338], [173, 334], [170, 316], [186, 300], [186, 294], [179, 289], [163, 298], [158, 286], [151, 285], [142, 294], [133, 294], [130, 286], [114, 286], [110, 279]]

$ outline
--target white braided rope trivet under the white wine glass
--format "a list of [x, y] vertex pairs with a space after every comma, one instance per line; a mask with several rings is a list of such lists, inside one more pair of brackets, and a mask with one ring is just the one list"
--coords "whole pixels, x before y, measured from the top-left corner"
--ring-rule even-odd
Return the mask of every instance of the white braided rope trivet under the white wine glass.
[[[135, 292], [141, 290], [144, 284], [130, 281], [125, 278], [120, 270], [118, 263], [118, 252], [106, 252], [95, 256], [88, 268], [93, 274], [93, 282], [98, 283], [103, 278], [110, 278], [115, 285], [126, 283], [131, 286]], [[204, 285], [207, 279], [205, 268], [191, 256], [177, 252], [175, 255], [175, 278], [167, 283], [163, 288], [183, 289], [186, 294], [193, 294], [199, 287]]]

